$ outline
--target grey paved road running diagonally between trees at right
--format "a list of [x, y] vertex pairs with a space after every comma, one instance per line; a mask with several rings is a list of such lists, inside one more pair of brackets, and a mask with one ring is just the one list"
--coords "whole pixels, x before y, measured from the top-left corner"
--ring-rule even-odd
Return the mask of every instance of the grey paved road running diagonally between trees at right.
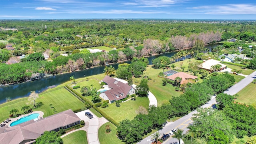
[[[237, 84], [235, 84], [234, 86], [226, 90], [224, 93], [234, 95], [238, 93], [240, 90], [242, 90], [244, 87], [246, 87], [248, 84], [250, 84], [250, 82], [252, 82], [254, 78], [256, 78], [256, 72], [253, 72], [249, 76], [246, 76], [243, 80], [241, 80], [240, 82], [238, 82]], [[215, 97], [212, 96], [212, 99], [201, 107], [208, 108], [215, 103], [216, 103]], [[196, 113], [196, 110], [194, 110], [193, 112], [190, 112], [189, 114], [187, 114], [186, 116], [183, 116], [182, 118], [176, 120], [175, 122], [168, 122], [166, 126], [164, 126], [164, 128], [162, 128], [162, 130], [160, 130], [159, 132], [168, 134], [170, 130], [172, 130], [173, 128], [180, 128], [184, 130], [183, 133], [185, 134], [188, 131], [187, 126], [192, 122], [191, 120], [192, 114], [195, 114], [195, 113]], [[140, 142], [138, 142], [137, 144], [150, 144], [151, 138], [152, 136], [148, 136], [143, 140], [141, 140]], [[162, 144], [178, 144], [178, 140], [176, 138], [170, 137], [167, 141], [163, 142]]]

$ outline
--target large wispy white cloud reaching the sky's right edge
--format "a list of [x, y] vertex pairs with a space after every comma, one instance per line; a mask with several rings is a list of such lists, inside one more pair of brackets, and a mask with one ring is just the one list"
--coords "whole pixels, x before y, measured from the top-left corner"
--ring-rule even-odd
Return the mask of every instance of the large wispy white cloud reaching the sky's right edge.
[[204, 14], [256, 14], [255, 4], [226, 4], [216, 6], [199, 6], [192, 9]]

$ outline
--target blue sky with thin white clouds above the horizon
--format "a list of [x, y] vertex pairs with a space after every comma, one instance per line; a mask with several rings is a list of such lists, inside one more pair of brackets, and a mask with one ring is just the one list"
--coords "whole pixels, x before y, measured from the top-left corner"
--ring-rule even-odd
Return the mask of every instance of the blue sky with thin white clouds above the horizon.
[[256, 20], [256, 0], [0, 0], [0, 19]]

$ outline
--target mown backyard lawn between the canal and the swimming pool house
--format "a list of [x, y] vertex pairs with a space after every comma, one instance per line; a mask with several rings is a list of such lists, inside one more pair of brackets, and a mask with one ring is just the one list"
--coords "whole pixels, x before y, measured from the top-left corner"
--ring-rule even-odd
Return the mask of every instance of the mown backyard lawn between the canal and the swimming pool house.
[[[11, 102], [13, 101], [15, 100], [12, 100]], [[36, 102], [42, 102], [43, 105], [34, 109], [34, 111], [44, 112], [44, 117], [54, 114], [54, 111], [49, 106], [50, 104], [52, 104], [52, 106], [56, 109], [57, 113], [68, 109], [76, 110], [78, 108], [84, 108], [84, 103], [78, 100], [65, 88], [42, 94], [39, 96]], [[18, 109], [19, 113], [22, 113], [23, 111], [21, 111], [21, 108], [22, 106], [26, 106], [26, 103], [28, 103], [28, 101], [24, 100], [0, 108], [0, 122], [4, 121], [6, 118], [9, 118], [9, 112], [12, 109]], [[33, 107], [32, 105], [29, 106]]]

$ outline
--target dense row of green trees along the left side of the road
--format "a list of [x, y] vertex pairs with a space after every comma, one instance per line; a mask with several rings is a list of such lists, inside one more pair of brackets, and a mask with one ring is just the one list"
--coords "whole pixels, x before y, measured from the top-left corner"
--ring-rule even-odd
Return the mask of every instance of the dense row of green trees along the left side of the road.
[[[173, 97], [169, 100], [169, 104], [163, 104], [160, 107], [151, 106], [148, 109], [148, 114], [138, 114], [135, 116], [134, 120], [122, 120], [120, 125], [117, 127], [118, 137], [126, 144], [138, 142], [139, 140], [142, 140], [144, 135], [151, 132], [152, 129], [161, 129], [167, 119], [184, 116], [188, 114], [188, 112], [202, 106], [210, 100], [212, 94], [219, 92], [215, 92], [213, 89], [219, 83], [212, 80], [216, 78], [223, 78], [228, 83], [222, 83], [221, 87], [224, 87], [222, 91], [229, 88], [230, 83], [234, 84], [233, 76], [230, 77], [229, 74], [220, 74], [210, 76], [209, 79], [204, 80], [202, 83], [188, 85], [184, 94], [179, 97]], [[212, 118], [215, 117], [216, 116]], [[224, 127], [224, 123], [226, 121], [222, 120], [222, 117], [220, 117], [220, 122], [222, 123], [219, 125]], [[216, 128], [216, 130], [217, 129], [218, 128]], [[228, 130], [231, 129], [232, 127], [227, 129], [227, 134], [230, 134]], [[213, 134], [218, 134], [217, 131], [213, 131]]]

